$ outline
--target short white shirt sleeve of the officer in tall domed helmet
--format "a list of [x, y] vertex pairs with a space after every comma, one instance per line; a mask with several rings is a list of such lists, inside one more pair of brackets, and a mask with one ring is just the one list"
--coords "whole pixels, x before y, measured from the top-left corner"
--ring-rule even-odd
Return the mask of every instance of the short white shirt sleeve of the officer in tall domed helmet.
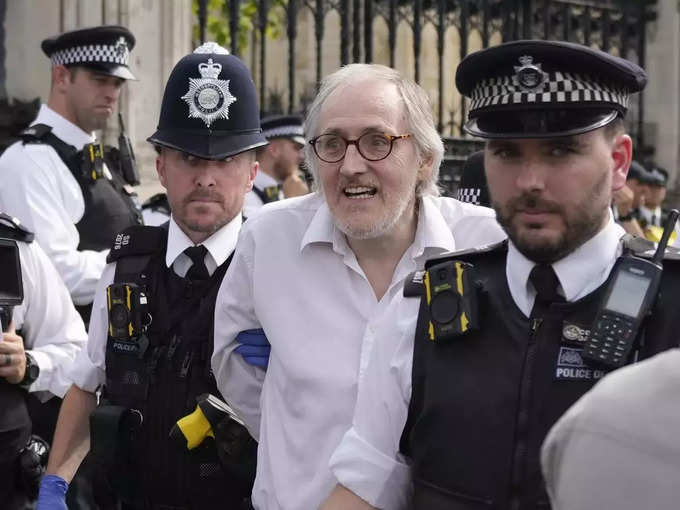
[[104, 268], [92, 304], [87, 348], [80, 351], [70, 372], [73, 383], [80, 389], [91, 393], [106, 382], [106, 342], [109, 320], [106, 309], [106, 288], [113, 283], [115, 273], [115, 263]]

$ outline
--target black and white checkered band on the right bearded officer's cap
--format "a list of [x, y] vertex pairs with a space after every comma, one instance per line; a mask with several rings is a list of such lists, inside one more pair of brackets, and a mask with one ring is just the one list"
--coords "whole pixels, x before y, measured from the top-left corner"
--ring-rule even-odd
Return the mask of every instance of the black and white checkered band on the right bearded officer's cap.
[[570, 103], [618, 104], [628, 108], [629, 94], [615, 89], [592, 77], [577, 73], [551, 72], [536, 90], [527, 91], [519, 84], [517, 76], [488, 78], [477, 85], [470, 94], [470, 112], [496, 105], [552, 104], [567, 106]]

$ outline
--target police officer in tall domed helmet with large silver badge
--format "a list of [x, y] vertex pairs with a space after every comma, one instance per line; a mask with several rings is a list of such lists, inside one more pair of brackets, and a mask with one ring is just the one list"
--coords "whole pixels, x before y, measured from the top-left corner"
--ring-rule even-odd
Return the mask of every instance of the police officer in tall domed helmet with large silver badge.
[[[211, 508], [218, 501], [238, 508], [250, 494], [252, 479], [225, 474], [214, 444], [188, 451], [168, 440], [197, 396], [218, 394], [210, 371], [215, 297], [257, 171], [253, 149], [267, 143], [241, 60], [215, 43], [182, 58], [149, 141], [159, 149], [156, 166], [172, 217], [162, 227], [135, 226], [116, 236], [39, 508], [63, 502], [88, 445], [126, 508]], [[88, 430], [101, 385], [103, 401]], [[237, 443], [254, 455], [254, 442], [241, 430], [244, 441]]]

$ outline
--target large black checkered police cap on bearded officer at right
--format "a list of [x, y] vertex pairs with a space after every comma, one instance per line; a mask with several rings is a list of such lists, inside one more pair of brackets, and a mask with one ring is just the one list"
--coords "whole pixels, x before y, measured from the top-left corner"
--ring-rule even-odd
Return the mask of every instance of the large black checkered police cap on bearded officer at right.
[[465, 129], [483, 138], [569, 136], [625, 116], [647, 74], [636, 64], [561, 41], [514, 41], [465, 57], [456, 86], [470, 98]]

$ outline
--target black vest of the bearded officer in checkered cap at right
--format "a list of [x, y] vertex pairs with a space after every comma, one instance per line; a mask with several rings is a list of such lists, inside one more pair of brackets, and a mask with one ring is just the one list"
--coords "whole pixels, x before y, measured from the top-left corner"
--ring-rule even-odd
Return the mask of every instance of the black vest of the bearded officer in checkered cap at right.
[[[507, 249], [497, 248], [456, 257], [474, 264], [482, 285], [480, 331], [430, 341], [429, 312], [421, 300], [412, 397], [400, 443], [413, 461], [415, 510], [550, 508], [541, 444], [557, 419], [604, 375], [579, 363], [574, 352], [582, 347], [563, 331], [568, 324], [590, 329], [606, 283], [574, 303], [554, 303], [536, 322], [512, 299], [506, 255]], [[678, 344], [673, 330], [680, 328], [679, 314], [673, 317], [670, 305], [680, 294], [680, 266], [666, 265], [643, 357]]]

